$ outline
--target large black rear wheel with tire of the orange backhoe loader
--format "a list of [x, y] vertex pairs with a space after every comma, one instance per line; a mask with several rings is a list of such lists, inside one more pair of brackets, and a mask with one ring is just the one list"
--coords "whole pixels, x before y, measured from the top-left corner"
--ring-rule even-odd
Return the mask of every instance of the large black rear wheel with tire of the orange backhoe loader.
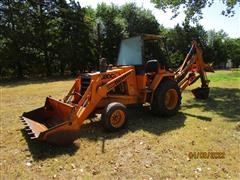
[[151, 109], [154, 114], [172, 116], [178, 112], [181, 99], [181, 92], [177, 82], [166, 80], [156, 89]]

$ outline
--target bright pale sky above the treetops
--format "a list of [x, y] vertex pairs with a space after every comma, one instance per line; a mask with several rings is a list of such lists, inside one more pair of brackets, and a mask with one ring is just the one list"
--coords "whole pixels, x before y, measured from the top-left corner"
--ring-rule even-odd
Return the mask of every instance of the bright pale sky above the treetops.
[[[80, 5], [91, 6], [96, 8], [98, 3], [105, 2], [106, 4], [114, 3], [116, 5], [123, 5], [125, 3], [135, 2], [139, 7], [149, 9], [152, 11], [153, 15], [156, 17], [159, 24], [167, 28], [173, 28], [177, 24], [182, 24], [185, 15], [183, 12], [180, 13], [176, 18], [171, 20], [172, 13], [168, 10], [166, 13], [154, 7], [154, 4], [150, 0], [78, 0]], [[205, 30], [224, 30], [229, 37], [239, 38], [240, 37], [240, 7], [235, 8], [235, 16], [228, 18], [221, 15], [222, 10], [225, 10], [225, 6], [220, 0], [215, 1], [215, 3], [209, 8], [203, 9], [203, 19], [199, 23], [205, 28]]]

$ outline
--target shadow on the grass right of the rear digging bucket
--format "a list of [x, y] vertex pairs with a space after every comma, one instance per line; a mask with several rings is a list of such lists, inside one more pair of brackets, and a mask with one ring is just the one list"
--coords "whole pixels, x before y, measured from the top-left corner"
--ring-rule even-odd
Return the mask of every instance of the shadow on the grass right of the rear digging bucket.
[[[210, 90], [210, 96], [207, 100], [191, 99], [182, 105], [182, 109], [200, 108], [204, 111], [212, 111], [226, 118], [227, 121], [239, 121], [239, 104], [240, 89], [213, 87]], [[186, 115], [198, 116], [191, 114]]]

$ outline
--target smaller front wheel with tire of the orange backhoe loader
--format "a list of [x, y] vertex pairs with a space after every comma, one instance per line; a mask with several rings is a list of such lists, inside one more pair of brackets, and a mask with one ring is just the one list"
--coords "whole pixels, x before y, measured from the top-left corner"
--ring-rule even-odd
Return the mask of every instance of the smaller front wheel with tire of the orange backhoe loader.
[[117, 131], [123, 128], [127, 119], [126, 106], [118, 102], [108, 104], [102, 113], [101, 119], [104, 122], [105, 129], [109, 131]]

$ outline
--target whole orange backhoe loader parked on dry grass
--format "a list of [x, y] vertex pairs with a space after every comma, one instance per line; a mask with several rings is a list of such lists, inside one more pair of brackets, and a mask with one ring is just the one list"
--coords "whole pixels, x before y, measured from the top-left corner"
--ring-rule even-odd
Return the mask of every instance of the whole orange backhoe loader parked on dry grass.
[[171, 116], [178, 112], [181, 92], [201, 78], [202, 87], [193, 91], [196, 98], [207, 98], [209, 81], [202, 52], [194, 41], [182, 66], [171, 72], [157, 60], [147, 59], [145, 42], [159, 41], [160, 36], [145, 34], [122, 40], [117, 65], [77, 77], [62, 101], [46, 98], [45, 105], [25, 112], [20, 120], [31, 139], [52, 144], [72, 143], [84, 121], [101, 113], [105, 128], [115, 131], [126, 123], [126, 107], [149, 103], [153, 113]]

